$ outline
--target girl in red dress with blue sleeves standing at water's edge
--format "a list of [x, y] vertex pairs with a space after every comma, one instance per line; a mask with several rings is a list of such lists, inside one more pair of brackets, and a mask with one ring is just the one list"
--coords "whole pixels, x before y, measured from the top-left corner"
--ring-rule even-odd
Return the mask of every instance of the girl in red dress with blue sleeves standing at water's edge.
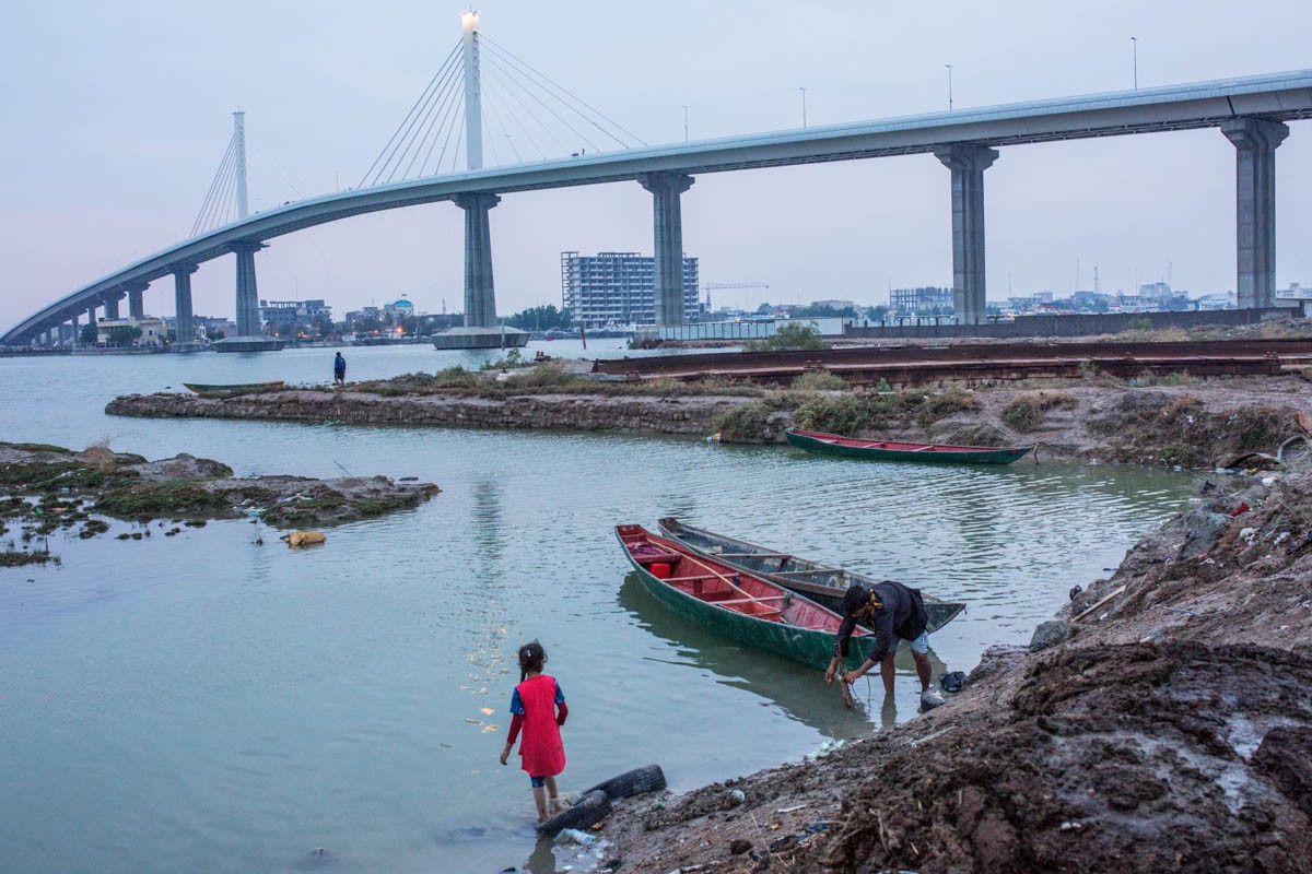
[[[538, 822], [547, 819], [547, 801], [556, 806], [556, 774], [565, 769], [565, 748], [560, 743], [560, 726], [569, 715], [565, 696], [554, 676], [542, 672], [547, 653], [542, 643], [530, 641], [520, 647], [520, 685], [510, 696], [510, 735], [501, 751], [501, 764], [510, 757], [514, 739], [523, 729], [520, 757], [529, 772]], [[546, 786], [546, 793], [543, 793]]]

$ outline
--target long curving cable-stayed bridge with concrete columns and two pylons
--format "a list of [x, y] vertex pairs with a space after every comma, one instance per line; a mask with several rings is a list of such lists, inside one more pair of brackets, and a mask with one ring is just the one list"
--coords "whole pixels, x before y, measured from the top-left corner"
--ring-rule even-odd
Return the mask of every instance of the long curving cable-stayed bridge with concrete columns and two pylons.
[[[950, 170], [953, 193], [953, 296], [958, 320], [981, 324], [984, 316], [984, 170], [998, 148], [1025, 143], [1219, 128], [1236, 148], [1236, 288], [1241, 308], [1270, 307], [1275, 294], [1275, 149], [1288, 135], [1290, 121], [1312, 118], [1312, 69], [1193, 83], [1128, 92], [1009, 104], [981, 109], [933, 113], [903, 118], [851, 122], [672, 145], [646, 145], [609, 123], [572, 94], [556, 94], [551, 104], [541, 94], [530, 104], [534, 86], [550, 90], [537, 71], [505, 52], [502, 80], [520, 89], [501, 104], [484, 101], [483, 41], [476, 13], [466, 13], [458, 51], [453, 51], [429, 83], [411, 114], [398, 127], [362, 187], [287, 203], [247, 215], [244, 207], [244, 153], [230, 144], [231, 159], [220, 162], [211, 198], [202, 206], [195, 235], [147, 258], [130, 263], [55, 300], [0, 337], [3, 345], [50, 345], [64, 325], [118, 316], [126, 296], [133, 316], [142, 316], [142, 294], [150, 283], [173, 276], [178, 338], [190, 338], [190, 275], [199, 265], [235, 254], [236, 322], [239, 337], [220, 341], [230, 349], [273, 347], [260, 337], [255, 254], [268, 241], [303, 228], [400, 207], [450, 200], [464, 211], [464, 324], [450, 345], [497, 345], [496, 300], [489, 212], [501, 195], [610, 182], [638, 182], [651, 191], [656, 257], [656, 321], [684, 322], [682, 219], [680, 195], [697, 174], [729, 170], [846, 161], [895, 155], [933, 153]], [[522, 67], [516, 67], [520, 63]], [[531, 69], [531, 68], [529, 68]], [[531, 84], [534, 76], [541, 80]], [[508, 93], [514, 93], [510, 88]], [[559, 89], [558, 89], [559, 90]], [[513, 117], [520, 135], [506, 138], [506, 157], [516, 162], [484, 166], [488, 117], [504, 121], [508, 106], [520, 101]], [[573, 105], [572, 110], [564, 106]], [[499, 106], [492, 110], [492, 106]], [[527, 107], [534, 106], [533, 111]], [[547, 135], [534, 139], [526, 119], [534, 113], [571, 130], [569, 140], [589, 142], [564, 157], [520, 162], [520, 145], [547, 155]], [[568, 119], [568, 121], [567, 121]], [[541, 121], [541, 119], [539, 119]], [[506, 131], [509, 132], [509, 131]], [[564, 139], [555, 142], [556, 153]], [[236, 117], [234, 143], [244, 143]], [[530, 145], [531, 144], [531, 145]], [[565, 147], [568, 148], [568, 147]], [[605, 149], [605, 151], [601, 151]], [[463, 169], [455, 169], [463, 165]], [[226, 169], [227, 168], [227, 169]], [[450, 169], [447, 169], [450, 168]], [[240, 170], [240, 172], [239, 172]], [[218, 206], [226, 193], [237, 198], [236, 218]], [[219, 218], [215, 218], [219, 216]]]

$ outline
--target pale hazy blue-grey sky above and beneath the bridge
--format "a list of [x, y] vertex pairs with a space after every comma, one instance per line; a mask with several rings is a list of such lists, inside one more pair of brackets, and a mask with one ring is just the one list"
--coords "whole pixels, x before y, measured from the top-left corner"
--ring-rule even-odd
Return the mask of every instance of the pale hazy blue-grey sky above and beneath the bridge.
[[[487, 0], [483, 34], [649, 144], [1312, 67], [1312, 4]], [[356, 186], [461, 37], [459, 4], [9, 0], [0, 29], [0, 325], [188, 236], [245, 113], [251, 210]], [[1136, 41], [1131, 41], [1135, 37]], [[804, 93], [802, 89], [806, 89]], [[491, 124], [491, 122], [489, 122]], [[1312, 284], [1312, 122], [1277, 152], [1277, 282]], [[497, 140], [488, 134], [487, 140]], [[505, 149], [501, 149], [505, 152]], [[502, 156], [508, 157], [508, 156]], [[526, 156], [527, 157], [527, 156]], [[489, 160], [488, 164], [495, 161]], [[1169, 280], [1235, 287], [1235, 149], [1215, 130], [1002, 149], [989, 300]], [[702, 174], [684, 249], [715, 305], [951, 284], [933, 156]], [[652, 253], [638, 183], [502, 197], [497, 312], [560, 305], [560, 253]], [[260, 296], [463, 308], [463, 214], [434, 203], [270, 241]], [[235, 258], [194, 309], [232, 316]], [[148, 312], [173, 312], [172, 280]]]

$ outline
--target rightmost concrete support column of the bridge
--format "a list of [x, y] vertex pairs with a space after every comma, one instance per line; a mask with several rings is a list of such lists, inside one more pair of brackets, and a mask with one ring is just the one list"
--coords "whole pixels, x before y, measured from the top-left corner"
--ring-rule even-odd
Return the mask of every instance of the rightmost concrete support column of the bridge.
[[1240, 309], [1275, 305], [1275, 148], [1288, 124], [1261, 118], [1221, 122], [1235, 144], [1236, 262]]

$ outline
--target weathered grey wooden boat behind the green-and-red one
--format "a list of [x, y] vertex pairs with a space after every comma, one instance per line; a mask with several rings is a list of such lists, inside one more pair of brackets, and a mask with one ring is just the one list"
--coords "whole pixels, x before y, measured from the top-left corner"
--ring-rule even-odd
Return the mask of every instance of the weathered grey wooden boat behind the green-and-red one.
[[[874, 577], [842, 567], [830, 567], [817, 561], [758, 546], [737, 537], [685, 525], [673, 516], [665, 516], [660, 520], [660, 533], [698, 554], [778, 583], [840, 613], [842, 612], [842, 595], [848, 588], [851, 586], [870, 587], [880, 582]], [[958, 613], [966, 609], [963, 601], [945, 601], [925, 592], [921, 592], [920, 596], [925, 601], [925, 613], [929, 615], [926, 630], [930, 634], [951, 622]]]

